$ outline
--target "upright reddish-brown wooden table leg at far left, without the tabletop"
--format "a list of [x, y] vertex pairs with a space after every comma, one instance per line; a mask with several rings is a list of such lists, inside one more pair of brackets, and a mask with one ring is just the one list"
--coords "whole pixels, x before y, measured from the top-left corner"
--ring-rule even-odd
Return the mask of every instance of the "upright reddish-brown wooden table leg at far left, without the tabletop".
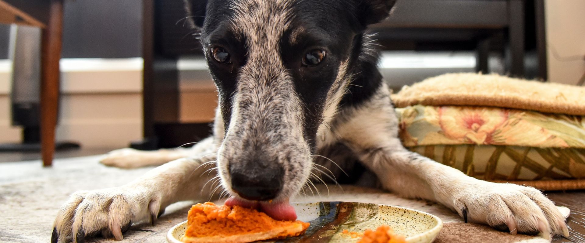
[[43, 166], [53, 163], [59, 110], [59, 60], [63, 41], [63, 0], [51, 0], [49, 22], [42, 34], [40, 132]]

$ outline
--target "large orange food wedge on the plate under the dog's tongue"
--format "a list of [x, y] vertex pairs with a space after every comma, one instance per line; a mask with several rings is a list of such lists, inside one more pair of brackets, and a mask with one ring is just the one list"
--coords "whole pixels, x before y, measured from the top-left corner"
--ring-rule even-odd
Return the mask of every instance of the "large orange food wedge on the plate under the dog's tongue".
[[302, 221], [278, 221], [255, 209], [240, 206], [218, 206], [212, 202], [197, 203], [189, 210], [185, 237], [222, 237], [240, 234], [263, 233], [265, 231], [302, 224], [300, 232], [283, 232], [274, 238], [285, 238], [303, 234], [309, 223]]

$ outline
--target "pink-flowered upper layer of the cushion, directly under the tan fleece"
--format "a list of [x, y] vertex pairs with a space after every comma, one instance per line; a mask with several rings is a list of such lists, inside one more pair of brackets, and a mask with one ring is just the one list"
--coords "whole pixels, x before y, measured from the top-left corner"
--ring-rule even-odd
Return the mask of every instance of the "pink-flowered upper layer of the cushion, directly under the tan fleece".
[[512, 145], [585, 148], [579, 115], [543, 114], [493, 107], [397, 108], [405, 146]]

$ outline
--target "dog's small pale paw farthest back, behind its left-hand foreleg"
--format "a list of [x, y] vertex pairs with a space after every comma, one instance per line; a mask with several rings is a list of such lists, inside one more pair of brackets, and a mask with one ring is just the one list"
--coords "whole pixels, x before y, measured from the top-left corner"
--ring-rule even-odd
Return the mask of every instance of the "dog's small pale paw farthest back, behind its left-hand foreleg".
[[148, 163], [148, 160], [152, 159], [152, 156], [147, 156], [143, 151], [125, 148], [107, 153], [99, 163], [111, 167], [130, 169], [143, 167], [145, 163]]

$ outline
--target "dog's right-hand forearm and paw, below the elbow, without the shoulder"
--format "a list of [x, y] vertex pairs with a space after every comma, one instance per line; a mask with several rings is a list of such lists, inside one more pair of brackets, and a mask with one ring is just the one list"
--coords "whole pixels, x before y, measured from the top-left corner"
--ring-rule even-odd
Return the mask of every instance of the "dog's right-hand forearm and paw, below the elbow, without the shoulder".
[[[394, 141], [394, 142], [392, 142]], [[511, 234], [568, 236], [565, 218], [540, 191], [515, 184], [497, 184], [406, 150], [398, 139], [386, 145], [359, 149], [361, 160], [376, 172], [385, 189], [411, 198], [442, 203], [475, 223]]]

